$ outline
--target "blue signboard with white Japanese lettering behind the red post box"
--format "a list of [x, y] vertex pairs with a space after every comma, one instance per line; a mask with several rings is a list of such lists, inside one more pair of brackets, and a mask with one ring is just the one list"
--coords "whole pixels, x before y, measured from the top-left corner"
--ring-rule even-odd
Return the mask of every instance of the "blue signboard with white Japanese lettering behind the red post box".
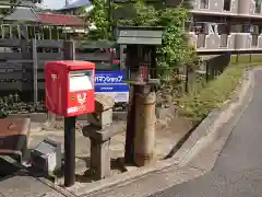
[[96, 71], [95, 92], [96, 94], [108, 94], [115, 97], [115, 102], [128, 102], [129, 85], [123, 83], [126, 72], [120, 71]]

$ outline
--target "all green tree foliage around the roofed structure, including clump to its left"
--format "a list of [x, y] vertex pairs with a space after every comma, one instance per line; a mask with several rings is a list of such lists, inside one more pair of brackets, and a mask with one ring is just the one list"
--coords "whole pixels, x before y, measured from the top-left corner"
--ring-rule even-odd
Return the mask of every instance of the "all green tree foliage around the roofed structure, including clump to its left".
[[[115, 23], [108, 22], [108, 5], [103, 0], [93, 0], [94, 9], [86, 14], [86, 20], [97, 27], [91, 31], [91, 39], [108, 39], [110, 30]], [[188, 44], [188, 34], [184, 30], [184, 22], [188, 20], [188, 8], [190, 0], [184, 0], [179, 8], [166, 8], [162, 1], [156, 4], [145, 3], [144, 0], [136, 0], [130, 4], [126, 12], [134, 12], [130, 19], [115, 21], [118, 25], [130, 26], [163, 26], [163, 45], [157, 48], [157, 66], [176, 67], [181, 63], [190, 63], [195, 60], [195, 51]], [[112, 9], [117, 5], [114, 4]]]

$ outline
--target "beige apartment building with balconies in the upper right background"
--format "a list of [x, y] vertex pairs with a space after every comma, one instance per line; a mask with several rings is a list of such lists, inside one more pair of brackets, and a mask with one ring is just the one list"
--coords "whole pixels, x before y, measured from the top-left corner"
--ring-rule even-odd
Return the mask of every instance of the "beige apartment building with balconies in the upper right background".
[[261, 0], [193, 0], [191, 15], [198, 51], [262, 51]]

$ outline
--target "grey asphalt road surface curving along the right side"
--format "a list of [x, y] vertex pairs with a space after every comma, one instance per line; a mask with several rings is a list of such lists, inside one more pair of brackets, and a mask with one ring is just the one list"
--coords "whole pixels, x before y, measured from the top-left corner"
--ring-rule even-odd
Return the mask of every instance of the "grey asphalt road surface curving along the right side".
[[152, 197], [262, 196], [262, 71], [255, 73], [253, 100], [234, 128], [214, 169], [196, 179]]

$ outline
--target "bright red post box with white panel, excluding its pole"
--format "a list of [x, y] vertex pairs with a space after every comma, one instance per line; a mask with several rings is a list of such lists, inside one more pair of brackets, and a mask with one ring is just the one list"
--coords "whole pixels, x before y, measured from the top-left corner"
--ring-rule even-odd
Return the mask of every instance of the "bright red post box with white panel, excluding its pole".
[[49, 61], [45, 67], [46, 107], [64, 117], [93, 113], [95, 63]]

